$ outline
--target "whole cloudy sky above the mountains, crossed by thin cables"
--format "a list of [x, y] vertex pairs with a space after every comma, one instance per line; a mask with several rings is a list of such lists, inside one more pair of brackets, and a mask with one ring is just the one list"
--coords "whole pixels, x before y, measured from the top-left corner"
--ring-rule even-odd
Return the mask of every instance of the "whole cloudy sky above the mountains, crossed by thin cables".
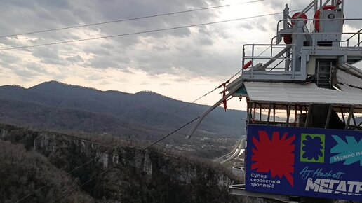
[[[291, 10], [302, 9], [309, 3], [248, 1], [253, 0], [2, 0], [0, 49], [247, 18], [281, 12], [286, 3]], [[345, 1], [346, 18], [361, 17], [358, 13], [362, 1]], [[8, 36], [227, 4], [232, 6]], [[309, 15], [311, 18], [312, 14]], [[190, 102], [239, 71], [244, 43], [270, 43], [276, 33], [276, 22], [281, 18], [272, 15], [93, 41], [0, 50], [0, 85], [31, 87], [57, 80], [99, 90], [131, 93], [151, 90]], [[345, 27], [356, 31], [362, 28], [360, 25], [349, 22]], [[221, 97], [218, 92], [199, 103], [213, 104]], [[241, 109], [237, 100], [231, 100], [233, 109]]]

